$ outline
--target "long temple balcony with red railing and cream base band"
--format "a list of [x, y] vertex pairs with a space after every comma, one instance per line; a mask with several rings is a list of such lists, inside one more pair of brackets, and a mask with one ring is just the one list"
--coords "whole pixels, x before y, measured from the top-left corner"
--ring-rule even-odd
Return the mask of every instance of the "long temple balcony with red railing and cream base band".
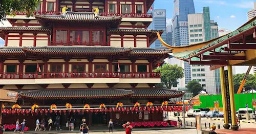
[[160, 73], [1, 73], [0, 84], [160, 83]]

